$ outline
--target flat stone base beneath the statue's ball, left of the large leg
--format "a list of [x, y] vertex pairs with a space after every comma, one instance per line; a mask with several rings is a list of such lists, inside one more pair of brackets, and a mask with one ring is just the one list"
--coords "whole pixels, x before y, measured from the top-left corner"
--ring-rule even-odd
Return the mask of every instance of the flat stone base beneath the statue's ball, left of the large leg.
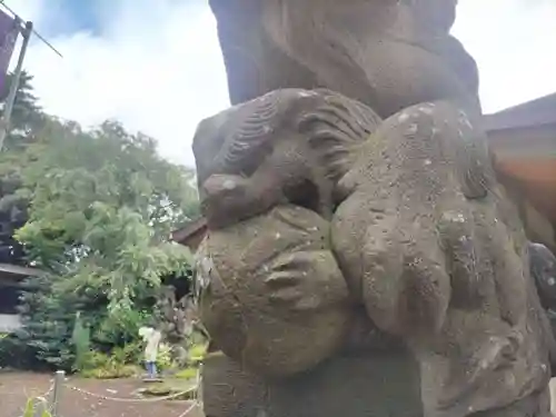
[[316, 370], [265, 380], [218, 353], [203, 366], [207, 417], [420, 417], [417, 364], [405, 353], [341, 355]]

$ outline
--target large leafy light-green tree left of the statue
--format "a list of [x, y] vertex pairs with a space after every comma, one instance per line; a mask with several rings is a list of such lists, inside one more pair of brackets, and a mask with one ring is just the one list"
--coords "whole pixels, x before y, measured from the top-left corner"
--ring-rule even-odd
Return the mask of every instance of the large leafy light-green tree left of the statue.
[[169, 237], [198, 215], [193, 171], [117, 122], [86, 131], [53, 118], [44, 118], [19, 163], [16, 193], [29, 202], [29, 219], [16, 236], [46, 271], [23, 296], [21, 341], [39, 359], [68, 367], [76, 311], [97, 346], [137, 337], [161, 279], [190, 276], [189, 251]]

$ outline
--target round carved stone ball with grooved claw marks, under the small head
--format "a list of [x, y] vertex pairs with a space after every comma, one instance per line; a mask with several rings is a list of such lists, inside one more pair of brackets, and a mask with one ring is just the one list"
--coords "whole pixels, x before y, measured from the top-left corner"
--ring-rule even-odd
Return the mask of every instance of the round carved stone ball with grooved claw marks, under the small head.
[[211, 230], [201, 250], [201, 318], [229, 357], [284, 377], [314, 368], [345, 342], [348, 290], [329, 224], [314, 211], [278, 206]]

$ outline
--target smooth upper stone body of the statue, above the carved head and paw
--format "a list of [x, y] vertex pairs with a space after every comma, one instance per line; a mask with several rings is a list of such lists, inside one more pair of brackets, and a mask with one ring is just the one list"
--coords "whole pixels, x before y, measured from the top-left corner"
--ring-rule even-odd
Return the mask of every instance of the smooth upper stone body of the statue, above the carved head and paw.
[[211, 0], [234, 103], [326, 87], [386, 117], [475, 96], [475, 61], [448, 34], [454, 0]]

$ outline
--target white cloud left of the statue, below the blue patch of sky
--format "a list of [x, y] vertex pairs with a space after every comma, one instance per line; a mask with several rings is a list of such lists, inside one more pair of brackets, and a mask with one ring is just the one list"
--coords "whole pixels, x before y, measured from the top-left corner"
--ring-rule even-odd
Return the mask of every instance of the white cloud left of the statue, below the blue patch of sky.
[[[17, 11], [40, 31], [49, 23], [41, 19], [46, 3], [26, 0]], [[85, 126], [117, 118], [157, 138], [175, 162], [193, 165], [197, 122], [228, 106], [216, 22], [198, 1], [119, 0], [102, 37], [79, 32], [49, 41], [63, 59], [39, 41], [26, 59], [49, 112]]]

